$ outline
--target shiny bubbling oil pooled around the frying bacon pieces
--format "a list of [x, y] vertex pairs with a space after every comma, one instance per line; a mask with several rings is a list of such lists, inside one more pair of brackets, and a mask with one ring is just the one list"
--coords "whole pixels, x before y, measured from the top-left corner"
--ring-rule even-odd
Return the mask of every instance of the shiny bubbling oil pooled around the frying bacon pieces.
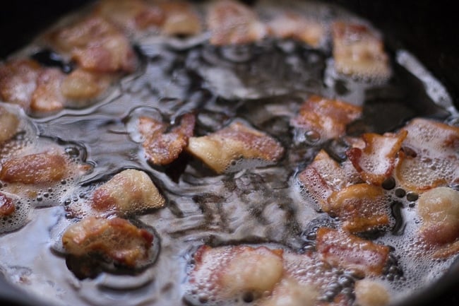
[[[264, 5], [266, 1], [256, 6], [261, 16]], [[306, 1], [292, 1], [288, 6], [308, 11], [325, 23], [338, 17], [366, 23], [334, 6]], [[201, 245], [280, 247], [292, 257], [292, 271], [299, 273], [300, 279], [307, 282], [307, 278], [318, 277], [323, 266], [312, 265], [308, 268], [311, 271], [303, 271], [297, 269], [301, 260], [295, 258], [314, 252], [316, 230], [321, 226], [337, 227], [339, 220], [317, 210], [314, 201], [303, 194], [296, 175], [321, 149], [342, 161], [347, 147], [340, 141], [321, 141], [314, 131], [292, 131], [289, 122], [302, 101], [319, 94], [363, 105], [364, 117], [348, 126], [352, 135], [395, 131], [408, 119], [425, 115], [417, 105], [419, 95], [429, 110], [438, 111], [429, 115], [452, 120], [432, 100], [426, 88], [430, 76], [413, 81], [412, 65], [405, 67], [405, 61], [393, 61], [391, 79], [368, 81], [333, 71], [327, 43], [311, 49], [293, 40], [267, 39], [251, 45], [215, 47], [202, 39], [181, 45], [176, 38], [172, 39], [174, 43], [150, 38], [136, 41], [142, 59], [138, 71], [114, 84], [105, 98], [93, 106], [64, 110], [52, 117], [22, 115], [25, 125], [21, 130], [25, 132], [16, 136], [16, 144], [6, 143], [1, 149], [1, 157], [8, 158], [13, 148], [32, 145], [33, 150], [41, 151], [53, 143], [64, 148], [75, 163], [93, 166], [78, 180], [37, 189], [31, 198], [21, 196], [16, 215], [0, 223], [0, 231], [11, 232], [0, 237], [1, 269], [7, 272], [9, 281], [37, 295], [46, 283], [47, 292], [52, 293], [49, 300], [56, 304], [253, 304], [248, 296], [237, 301], [218, 300], [211, 294], [204, 297], [202, 292], [186, 291], [184, 283], [193, 269], [192, 257]], [[63, 59], [47, 58], [49, 54], [52, 52], [42, 50], [35, 59], [63, 70], [72, 69]], [[382, 123], [381, 109], [387, 115]], [[148, 114], [174, 122], [191, 111], [197, 114], [197, 136], [241, 119], [278, 139], [285, 155], [275, 165], [238, 162], [234, 171], [224, 175], [215, 175], [186, 154], [172, 166], [149, 165], [136, 131], [136, 119]], [[84, 207], [95, 187], [127, 168], [148, 173], [167, 199], [165, 208], [133, 217], [133, 222], [155, 230], [158, 256], [134, 271], [89, 264], [87, 267], [97, 269], [97, 273], [78, 279], [68, 266], [78, 269], [82, 263], [66, 259], [59, 245], [66, 226], [81, 218], [71, 208]], [[0, 191], [11, 191], [8, 188], [2, 186]], [[403, 298], [438, 279], [453, 259], [432, 261], [413, 241], [419, 231], [417, 195], [403, 191], [391, 180], [384, 188], [388, 201], [393, 203], [393, 224], [371, 238], [393, 247], [381, 281], [395, 297]], [[327, 275], [322, 281], [322, 301], [333, 300], [338, 293], [353, 298], [352, 288], [359, 279], [355, 271], [330, 269]]]

